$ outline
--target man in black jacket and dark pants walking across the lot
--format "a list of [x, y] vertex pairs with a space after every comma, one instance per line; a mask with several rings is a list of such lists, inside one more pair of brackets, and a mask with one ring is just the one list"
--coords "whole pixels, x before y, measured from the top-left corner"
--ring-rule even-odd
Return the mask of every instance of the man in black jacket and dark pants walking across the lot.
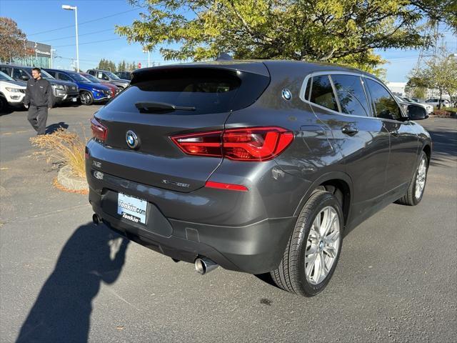
[[26, 96], [24, 96], [24, 105], [29, 108], [27, 119], [37, 134], [46, 134], [48, 109], [51, 109], [54, 104], [52, 87], [48, 80], [41, 79], [41, 69], [31, 69], [31, 76], [34, 78], [27, 81]]

